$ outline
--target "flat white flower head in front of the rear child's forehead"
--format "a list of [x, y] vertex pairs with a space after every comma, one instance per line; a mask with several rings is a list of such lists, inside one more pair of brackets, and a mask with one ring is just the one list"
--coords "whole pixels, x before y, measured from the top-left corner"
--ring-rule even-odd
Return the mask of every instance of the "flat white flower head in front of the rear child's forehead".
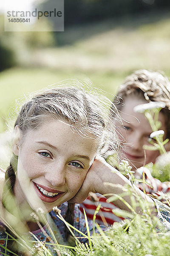
[[164, 108], [166, 105], [164, 102], [149, 102], [145, 104], [137, 105], [133, 108], [134, 112], [144, 113], [146, 110], [155, 109], [155, 108]]

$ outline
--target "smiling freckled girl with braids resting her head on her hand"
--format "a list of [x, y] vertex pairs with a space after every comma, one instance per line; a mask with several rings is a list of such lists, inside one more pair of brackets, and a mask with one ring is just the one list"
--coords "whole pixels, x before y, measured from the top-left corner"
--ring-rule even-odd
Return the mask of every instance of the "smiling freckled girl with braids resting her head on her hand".
[[[27, 228], [40, 241], [49, 241], [31, 217], [38, 208], [47, 214], [57, 240], [62, 243], [70, 233], [53, 207], [59, 206], [65, 220], [85, 233], [84, 218], [74, 203], [85, 200], [90, 191], [122, 192], [121, 186], [111, 187], [105, 182], [131, 186], [103, 158], [108, 145], [119, 150], [113, 118], [105, 114], [107, 105], [104, 97], [77, 87], [46, 90], [23, 105], [14, 125], [13, 157], [6, 173], [1, 171], [0, 175], [2, 246], [6, 245], [5, 228], [11, 233], [4, 219], [16, 232], [25, 233]], [[116, 115], [113, 108], [112, 112]], [[130, 204], [128, 196], [125, 200]], [[147, 200], [153, 207], [153, 201]], [[120, 200], [115, 204], [130, 211]], [[89, 227], [92, 230], [91, 221]], [[51, 236], [46, 226], [44, 230]], [[12, 246], [8, 243], [7, 247]], [[4, 250], [0, 247], [0, 256]]]

